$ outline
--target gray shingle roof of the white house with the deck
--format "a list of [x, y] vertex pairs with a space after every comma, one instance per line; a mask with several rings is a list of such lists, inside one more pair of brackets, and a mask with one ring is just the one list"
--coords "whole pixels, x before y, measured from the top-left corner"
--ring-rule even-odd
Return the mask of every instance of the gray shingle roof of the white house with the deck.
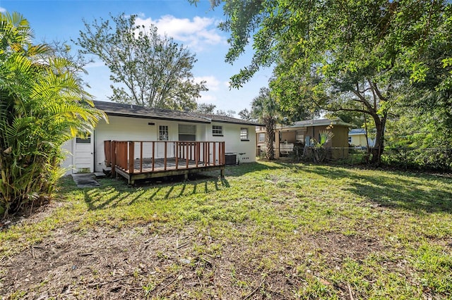
[[129, 118], [147, 118], [156, 120], [178, 120], [193, 123], [222, 122], [243, 125], [258, 125], [257, 123], [245, 121], [225, 115], [203, 115], [188, 111], [173, 111], [164, 108], [148, 108], [132, 104], [119, 104], [109, 101], [93, 101], [96, 108], [105, 111], [107, 115], [118, 115]]

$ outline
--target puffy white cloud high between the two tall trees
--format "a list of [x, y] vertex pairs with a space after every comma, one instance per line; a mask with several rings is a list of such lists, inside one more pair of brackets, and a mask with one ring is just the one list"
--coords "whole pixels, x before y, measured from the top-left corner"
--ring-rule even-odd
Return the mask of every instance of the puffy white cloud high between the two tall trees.
[[137, 25], [149, 27], [153, 24], [157, 27], [160, 35], [167, 35], [177, 41], [181, 41], [186, 46], [203, 50], [208, 45], [226, 44], [225, 37], [219, 35], [216, 27], [217, 21], [213, 18], [194, 17], [176, 18], [173, 15], [163, 15], [157, 20], [151, 18], [136, 18]]

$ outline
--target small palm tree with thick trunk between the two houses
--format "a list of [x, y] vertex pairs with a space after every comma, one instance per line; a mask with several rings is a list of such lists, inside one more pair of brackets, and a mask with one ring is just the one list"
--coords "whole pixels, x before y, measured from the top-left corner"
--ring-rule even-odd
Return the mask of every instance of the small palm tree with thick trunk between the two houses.
[[278, 104], [275, 99], [271, 97], [270, 89], [262, 87], [259, 91], [259, 95], [256, 96], [251, 103], [251, 114], [266, 126], [266, 158], [268, 160], [275, 159], [273, 143], [275, 141], [278, 111]]

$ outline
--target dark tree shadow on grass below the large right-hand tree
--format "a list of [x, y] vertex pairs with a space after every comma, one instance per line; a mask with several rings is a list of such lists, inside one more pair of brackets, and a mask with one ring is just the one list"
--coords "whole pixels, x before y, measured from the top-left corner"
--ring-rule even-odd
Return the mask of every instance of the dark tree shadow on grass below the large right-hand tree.
[[452, 181], [435, 175], [376, 171], [374, 175], [352, 169], [319, 166], [305, 169], [331, 180], [351, 179], [344, 190], [390, 208], [415, 213], [452, 213]]

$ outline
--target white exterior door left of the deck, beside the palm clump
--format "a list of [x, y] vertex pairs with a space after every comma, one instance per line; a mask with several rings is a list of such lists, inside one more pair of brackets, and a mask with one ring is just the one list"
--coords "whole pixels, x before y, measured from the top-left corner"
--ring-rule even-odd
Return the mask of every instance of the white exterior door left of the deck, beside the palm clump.
[[73, 139], [73, 173], [94, 172], [94, 137], [76, 137]]

